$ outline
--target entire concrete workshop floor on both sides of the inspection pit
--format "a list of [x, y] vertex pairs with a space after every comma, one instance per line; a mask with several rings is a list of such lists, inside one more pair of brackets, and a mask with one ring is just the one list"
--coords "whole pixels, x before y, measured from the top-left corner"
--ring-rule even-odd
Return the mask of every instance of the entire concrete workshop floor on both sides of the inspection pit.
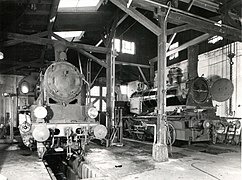
[[[107, 178], [122, 180], [240, 180], [241, 147], [207, 145], [172, 147], [169, 161], [152, 160], [152, 144], [125, 141], [123, 147], [91, 143], [86, 162]], [[0, 174], [8, 180], [47, 180], [49, 174], [36, 153], [17, 144], [0, 144]], [[0, 176], [0, 180], [1, 176]]]

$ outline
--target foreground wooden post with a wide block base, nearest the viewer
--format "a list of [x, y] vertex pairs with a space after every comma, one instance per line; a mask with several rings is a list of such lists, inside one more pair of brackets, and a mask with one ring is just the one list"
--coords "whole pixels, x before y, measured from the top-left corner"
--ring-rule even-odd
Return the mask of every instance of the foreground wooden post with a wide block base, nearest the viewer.
[[158, 69], [157, 69], [157, 142], [153, 144], [152, 157], [155, 161], [168, 160], [166, 145], [166, 21], [159, 17], [161, 34], [157, 36], [158, 42]]

